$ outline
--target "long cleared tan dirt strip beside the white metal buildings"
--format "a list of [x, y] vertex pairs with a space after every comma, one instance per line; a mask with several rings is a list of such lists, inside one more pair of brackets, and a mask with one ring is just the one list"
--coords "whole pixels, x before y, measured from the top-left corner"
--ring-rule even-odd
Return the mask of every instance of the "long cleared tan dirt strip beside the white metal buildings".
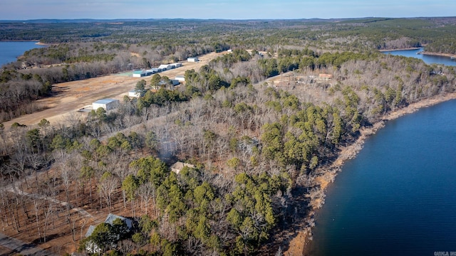
[[[174, 79], [176, 75], [184, 75], [186, 70], [195, 69], [196, 71], [207, 65], [210, 60], [217, 56], [225, 54], [208, 53], [199, 56], [197, 63], [182, 63], [182, 67], [167, 70], [160, 75], [166, 75], [170, 79]], [[79, 80], [73, 82], [63, 82], [53, 85], [53, 92], [56, 93], [53, 97], [38, 100], [41, 105], [47, 107], [46, 110], [33, 114], [26, 114], [21, 117], [11, 119], [4, 122], [5, 129], [11, 128], [11, 124], [18, 122], [31, 126], [38, 124], [41, 119], [47, 119], [52, 125], [65, 122], [65, 114], [79, 110], [83, 107], [91, 105], [92, 102], [104, 98], [114, 98], [122, 100], [124, 95], [128, 95], [128, 91], [135, 88], [138, 81], [144, 79], [149, 84], [151, 77], [133, 78], [131, 75], [105, 75], [99, 78], [90, 78], [88, 80]]]

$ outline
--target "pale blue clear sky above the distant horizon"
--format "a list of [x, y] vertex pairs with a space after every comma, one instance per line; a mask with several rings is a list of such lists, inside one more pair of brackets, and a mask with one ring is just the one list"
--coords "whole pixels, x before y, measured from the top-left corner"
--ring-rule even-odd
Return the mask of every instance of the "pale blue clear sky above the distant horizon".
[[0, 0], [0, 20], [456, 16], [455, 0]]

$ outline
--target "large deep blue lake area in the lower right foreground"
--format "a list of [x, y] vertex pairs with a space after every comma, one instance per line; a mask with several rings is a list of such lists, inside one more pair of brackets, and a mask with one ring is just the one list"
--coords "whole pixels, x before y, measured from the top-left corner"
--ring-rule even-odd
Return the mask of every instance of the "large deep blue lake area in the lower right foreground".
[[366, 140], [328, 188], [311, 255], [456, 252], [455, 213], [452, 100], [390, 121]]

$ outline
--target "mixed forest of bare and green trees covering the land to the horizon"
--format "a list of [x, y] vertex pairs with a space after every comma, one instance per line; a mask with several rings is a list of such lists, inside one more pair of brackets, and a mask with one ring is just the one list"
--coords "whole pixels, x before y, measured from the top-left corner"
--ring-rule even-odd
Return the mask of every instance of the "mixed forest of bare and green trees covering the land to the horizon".
[[[342, 146], [388, 112], [456, 89], [455, 67], [378, 50], [453, 53], [455, 23], [2, 23], [1, 40], [52, 44], [4, 66], [1, 120], [35, 111], [58, 82], [233, 49], [187, 70], [178, 88], [157, 85], [160, 75], [141, 81], [142, 97], [125, 97], [117, 110], [0, 124], [2, 228], [41, 243], [56, 239], [60, 222], [89, 254], [95, 244], [112, 255], [282, 255], [287, 230], [314, 225], [311, 212], [324, 202], [316, 180]], [[280, 74], [279, 85], [266, 80]], [[187, 165], [172, 171], [175, 161]], [[135, 225], [103, 223], [84, 238], [75, 208], [122, 212]]]

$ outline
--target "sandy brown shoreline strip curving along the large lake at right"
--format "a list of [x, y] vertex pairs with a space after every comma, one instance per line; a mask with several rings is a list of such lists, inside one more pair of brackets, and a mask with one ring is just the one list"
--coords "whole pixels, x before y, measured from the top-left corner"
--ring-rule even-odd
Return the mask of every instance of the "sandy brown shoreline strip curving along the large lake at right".
[[[349, 159], [354, 159], [361, 149], [363, 149], [363, 144], [368, 137], [375, 134], [378, 129], [385, 127], [385, 123], [402, 117], [405, 114], [412, 114], [420, 109], [425, 107], [430, 107], [433, 105], [437, 105], [442, 102], [447, 102], [449, 100], [456, 100], [456, 92], [450, 92], [445, 95], [435, 95], [429, 97], [427, 99], [420, 100], [419, 102], [414, 102], [407, 107], [400, 108], [398, 110], [394, 110], [386, 114], [379, 122], [375, 122], [371, 127], [363, 127], [359, 130], [360, 136], [356, 139], [356, 142], [348, 146], [343, 146], [340, 149], [337, 159], [328, 166], [321, 166], [320, 168], [316, 169], [316, 178], [314, 178], [314, 183], [316, 187], [319, 188], [321, 191], [321, 198], [316, 198], [314, 201], [320, 201], [321, 207], [324, 205], [324, 198], [326, 196], [326, 188], [329, 186], [330, 182], [333, 183], [338, 172], [341, 171], [343, 164]], [[309, 203], [312, 205], [312, 201]], [[312, 235], [312, 228], [314, 228], [314, 219], [316, 218], [317, 212], [321, 207], [314, 207], [309, 210], [309, 213], [306, 215], [306, 226], [303, 230], [299, 231], [299, 234], [296, 238], [293, 238], [290, 241], [290, 247], [294, 244], [301, 243], [304, 245], [301, 255], [311, 255], [310, 248], [309, 248], [309, 240], [311, 240]], [[310, 238], [310, 239], [309, 239]]]

